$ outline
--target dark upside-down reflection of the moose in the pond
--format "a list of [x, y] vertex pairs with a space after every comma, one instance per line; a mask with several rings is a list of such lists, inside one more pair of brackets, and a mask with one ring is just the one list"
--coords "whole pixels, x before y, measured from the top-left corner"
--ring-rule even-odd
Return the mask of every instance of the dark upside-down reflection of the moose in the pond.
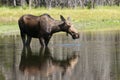
[[35, 54], [30, 47], [23, 48], [19, 69], [26, 77], [36, 75], [49, 77], [55, 73], [60, 73], [62, 76], [71, 74], [79, 58], [74, 53], [67, 59], [58, 60], [52, 57], [48, 47], [41, 47], [39, 54]]

